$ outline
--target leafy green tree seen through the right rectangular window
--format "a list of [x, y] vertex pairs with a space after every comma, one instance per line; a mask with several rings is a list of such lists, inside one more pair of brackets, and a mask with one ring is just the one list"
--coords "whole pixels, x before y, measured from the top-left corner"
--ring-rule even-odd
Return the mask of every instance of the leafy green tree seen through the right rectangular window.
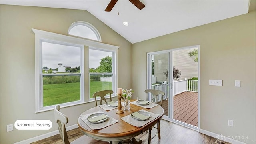
[[112, 72], [112, 57], [106, 56], [105, 58], [102, 58], [100, 61], [100, 66], [96, 68], [96, 72], [98, 73]]

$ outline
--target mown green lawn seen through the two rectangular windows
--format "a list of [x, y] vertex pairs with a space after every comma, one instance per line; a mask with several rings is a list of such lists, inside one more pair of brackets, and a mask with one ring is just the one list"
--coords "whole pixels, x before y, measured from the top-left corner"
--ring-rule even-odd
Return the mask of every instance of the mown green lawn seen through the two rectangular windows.
[[[94, 92], [100, 90], [112, 90], [112, 82], [90, 82], [90, 98], [92, 98]], [[79, 82], [44, 85], [44, 106], [73, 102], [76, 100], [80, 100]]]

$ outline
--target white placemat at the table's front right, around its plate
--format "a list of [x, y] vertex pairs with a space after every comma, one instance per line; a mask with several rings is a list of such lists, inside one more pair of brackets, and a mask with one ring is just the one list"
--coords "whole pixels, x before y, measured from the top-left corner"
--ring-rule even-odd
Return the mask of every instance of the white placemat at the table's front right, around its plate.
[[[139, 111], [148, 112], [146, 110], [139, 110]], [[154, 120], [155, 118], [157, 118], [159, 116], [159, 114], [154, 114], [152, 112], [148, 112], [148, 113], [151, 115], [151, 117], [145, 121], [135, 120], [134, 118], [132, 118], [131, 114], [129, 114], [128, 116], [122, 117], [121, 120], [123, 120], [133, 126], [141, 127], [141, 126], [144, 126], [145, 124], [147, 124], [148, 122], [151, 122], [152, 120]]]

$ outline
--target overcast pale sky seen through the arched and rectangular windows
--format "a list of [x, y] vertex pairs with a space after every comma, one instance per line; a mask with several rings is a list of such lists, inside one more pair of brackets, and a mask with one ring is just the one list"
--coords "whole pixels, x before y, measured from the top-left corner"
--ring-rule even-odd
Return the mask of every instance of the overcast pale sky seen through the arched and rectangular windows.
[[[69, 33], [74, 36], [98, 40], [96, 34], [88, 27], [77, 25], [70, 29]], [[50, 42], [42, 42], [42, 66], [47, 68], [58, 68], [58, 63], [62, 66], [70, 66], [71, 68], [81, 66], [81, 49], [76, 46], [65, 46], [63, 44], [53, 44]], [[89, 68], [97, 68], [100, 66], [101, 58], [112, 56], [112, 52], [104, 52], [100, 50], [89, 50]], [[86, 58], [85, 58], [86, 59]]]

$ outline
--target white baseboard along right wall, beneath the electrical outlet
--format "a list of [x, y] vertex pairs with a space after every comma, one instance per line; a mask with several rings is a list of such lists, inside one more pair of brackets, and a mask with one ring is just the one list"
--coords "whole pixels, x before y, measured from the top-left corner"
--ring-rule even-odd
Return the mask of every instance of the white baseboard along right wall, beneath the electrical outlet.
[[223, 136], [221, 134], [215, 134], [215, 133], [209, 132], [207, 130], [199, 129], [198, 132], [200, 132], [202, 134], [205, 134], [205, 135], [208, 135], [208, 136], [211, 136], [211, 137], [216, 138], [216, 139], [219, 138], [220, 140], [224, 140], [225, 142], [229, 142], [231, 144], [246, 144], [244, 142], [241, 142], [241, 141], [238, 141], [238, 140], [235, 140], [235, 139], [232, 139], [232, 138], [228, 138], [228, 137]]

